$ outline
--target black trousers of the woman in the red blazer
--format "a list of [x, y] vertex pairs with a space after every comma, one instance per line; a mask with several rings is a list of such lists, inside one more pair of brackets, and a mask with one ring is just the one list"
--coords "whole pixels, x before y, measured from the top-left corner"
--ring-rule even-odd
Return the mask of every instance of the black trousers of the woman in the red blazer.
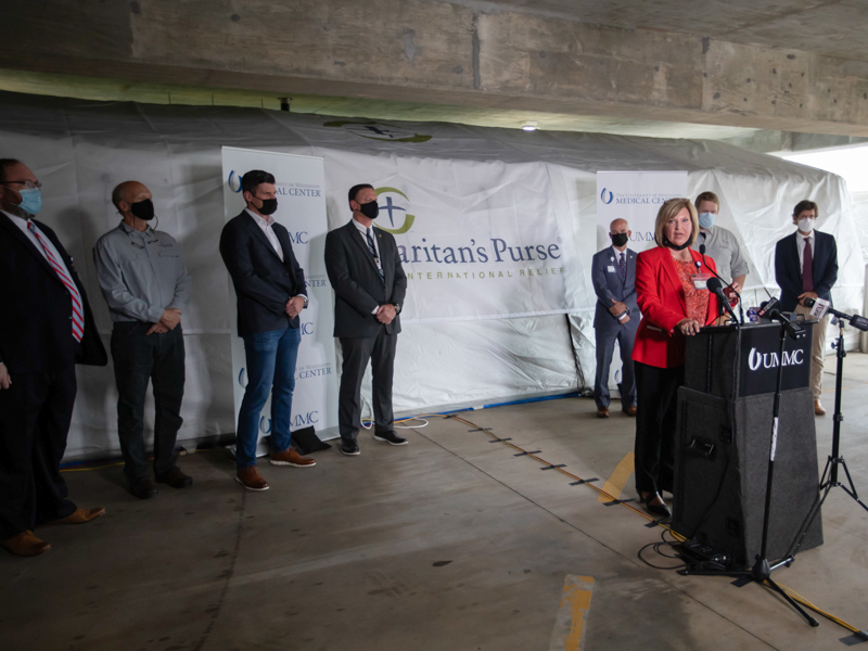
[[636, 490], [672, 493], [675, 474], [675, 420], [684, 365], [660, 369], [635, 362], [636, 369]]

